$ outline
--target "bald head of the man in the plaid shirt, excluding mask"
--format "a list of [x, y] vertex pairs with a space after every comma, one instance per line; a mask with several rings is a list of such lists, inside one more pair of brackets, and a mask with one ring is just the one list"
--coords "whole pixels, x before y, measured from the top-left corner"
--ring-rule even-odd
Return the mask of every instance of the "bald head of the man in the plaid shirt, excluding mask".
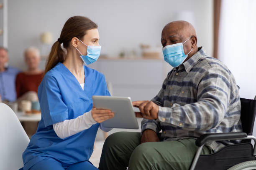
[[186, 60], [194, 55], [198, 50], [197, 35], [193, 25], [187, 21], [173, 21], [165, 25], [164, 29], [162, 30], [161, 43], [163, 47], [165, 47], [166, 45], [177, 44], [180, 42], [183, 43], [187, 39], [189, 40], [183, 44], [184, 53], [187, 54], [191, 50], [191, 48], [192, 51], [189, 53]]

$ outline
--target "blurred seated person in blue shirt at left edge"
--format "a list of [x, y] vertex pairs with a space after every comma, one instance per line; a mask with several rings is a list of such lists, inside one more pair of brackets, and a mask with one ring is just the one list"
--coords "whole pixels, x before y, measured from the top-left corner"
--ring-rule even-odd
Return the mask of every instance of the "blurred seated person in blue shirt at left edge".
[[16, 100], [15, 78], [19, 70], [7, 66], [8, 50], [0, 47], [0, 98], [3, 102]]

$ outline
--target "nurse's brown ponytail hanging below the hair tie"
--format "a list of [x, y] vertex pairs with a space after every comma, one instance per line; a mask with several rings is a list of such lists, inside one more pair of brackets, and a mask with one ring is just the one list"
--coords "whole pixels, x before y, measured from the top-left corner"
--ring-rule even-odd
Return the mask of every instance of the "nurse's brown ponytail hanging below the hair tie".
[[46, 72], [51, 70], [56, 64], [58, 64], [58, 62], [63, 62], [63, 61], [64, 61], [64, 50], [61, 48], [60, 42], [56, 41], [51, 47], [51, 52], [45, 66], [44, 75], [46, 74]]

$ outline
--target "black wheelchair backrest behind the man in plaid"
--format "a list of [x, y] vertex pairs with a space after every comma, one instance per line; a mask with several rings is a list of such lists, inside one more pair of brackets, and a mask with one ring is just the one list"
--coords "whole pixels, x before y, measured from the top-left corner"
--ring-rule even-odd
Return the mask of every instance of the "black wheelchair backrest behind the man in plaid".
[[240, 98], [243, 132], [252, 135], [256, 115], [256, 100]]

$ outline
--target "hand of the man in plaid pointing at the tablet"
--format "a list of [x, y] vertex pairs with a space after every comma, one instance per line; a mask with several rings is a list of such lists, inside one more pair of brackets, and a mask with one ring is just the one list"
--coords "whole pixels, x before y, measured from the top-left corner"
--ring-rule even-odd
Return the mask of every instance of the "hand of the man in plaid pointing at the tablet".
[[146, 119], [157, 119], [159, 107], [154, 102], [144, 100], [132, 102], [134, 107], [138, 107], [141, 112], [135, 112], [136, 117], [144, 117]]

